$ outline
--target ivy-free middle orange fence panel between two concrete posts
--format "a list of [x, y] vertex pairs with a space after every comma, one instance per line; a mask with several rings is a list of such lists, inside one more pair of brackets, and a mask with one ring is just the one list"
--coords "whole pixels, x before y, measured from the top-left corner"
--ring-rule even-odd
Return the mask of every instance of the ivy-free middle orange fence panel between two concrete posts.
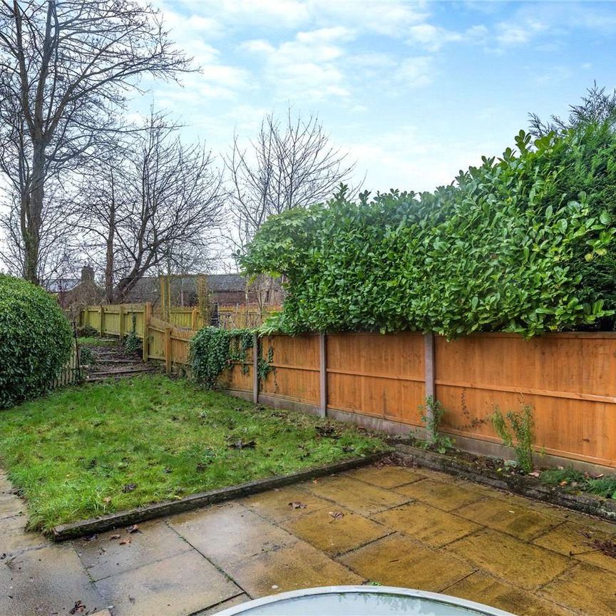
[[424, 338], [327, 336], [327, 408], [419, 426], [425, 402]]

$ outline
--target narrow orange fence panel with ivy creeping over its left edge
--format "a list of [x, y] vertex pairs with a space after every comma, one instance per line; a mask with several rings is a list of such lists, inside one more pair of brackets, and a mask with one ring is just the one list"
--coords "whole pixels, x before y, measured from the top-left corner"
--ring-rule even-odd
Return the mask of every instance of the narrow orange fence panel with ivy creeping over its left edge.
[[262, 339], [262, 356], [267, 361], [272, 349], [273, 370], [261, 384], [263, 394], [319, 404], [319, 337], [267, 336]]

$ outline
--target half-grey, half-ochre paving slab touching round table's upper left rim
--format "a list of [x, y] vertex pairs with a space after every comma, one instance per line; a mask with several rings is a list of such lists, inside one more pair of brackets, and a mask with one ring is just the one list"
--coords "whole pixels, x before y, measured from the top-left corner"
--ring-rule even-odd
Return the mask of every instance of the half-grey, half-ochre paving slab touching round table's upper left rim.
[[364, 578], [303, 541], [237, 560], [225, 570], [252, 597], [364, 582]]

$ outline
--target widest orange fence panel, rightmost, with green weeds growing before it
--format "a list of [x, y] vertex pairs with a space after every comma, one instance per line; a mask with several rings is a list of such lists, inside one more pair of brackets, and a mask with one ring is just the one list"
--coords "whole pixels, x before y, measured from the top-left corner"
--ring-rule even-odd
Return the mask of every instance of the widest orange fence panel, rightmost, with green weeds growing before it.
[[616, 466], [616, 334], [437, 337], [436, 399], [446, 431], [492, 442], [494, 407], [530, 404], [536, 448]]

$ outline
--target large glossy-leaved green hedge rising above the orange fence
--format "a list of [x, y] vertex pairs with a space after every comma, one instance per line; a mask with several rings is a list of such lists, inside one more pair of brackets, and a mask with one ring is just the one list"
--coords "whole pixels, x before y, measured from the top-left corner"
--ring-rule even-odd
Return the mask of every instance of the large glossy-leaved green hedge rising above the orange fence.
[[605, 327], [616, 308], [616, 138], [548, 135], [483, 158], [434, 193], [291, 210], [242, 264], [284, 274], [283, 332], [400, 329], [456, 337]]

